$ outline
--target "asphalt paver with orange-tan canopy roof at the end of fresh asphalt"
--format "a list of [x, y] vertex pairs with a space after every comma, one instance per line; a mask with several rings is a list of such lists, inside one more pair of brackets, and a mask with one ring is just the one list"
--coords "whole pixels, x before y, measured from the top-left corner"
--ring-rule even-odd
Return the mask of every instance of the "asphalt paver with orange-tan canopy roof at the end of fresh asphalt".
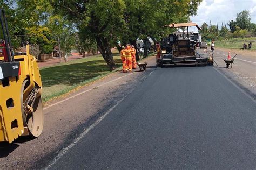
[[207, 56], [196, 53], [199, 35], [188, 31], [188, 27], [191, 26], [196, 26], [198, 30], [201, 30], [196, 23], [173, 23], [164, 26], [183, 31], [173, 32], [161, 41], [161, 56], [157, 60], [158, 65], [207, 65]]

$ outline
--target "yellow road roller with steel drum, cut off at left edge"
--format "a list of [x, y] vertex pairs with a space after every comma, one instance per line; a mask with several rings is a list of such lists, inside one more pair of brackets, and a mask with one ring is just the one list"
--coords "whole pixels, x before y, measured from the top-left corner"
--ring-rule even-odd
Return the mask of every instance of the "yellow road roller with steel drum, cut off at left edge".
[[3, 9], [0, 18], [0, 142], [12, 143], [19, 136], [42, 133], [42, 82], [28, 45], [26, 55], [14, 56]]

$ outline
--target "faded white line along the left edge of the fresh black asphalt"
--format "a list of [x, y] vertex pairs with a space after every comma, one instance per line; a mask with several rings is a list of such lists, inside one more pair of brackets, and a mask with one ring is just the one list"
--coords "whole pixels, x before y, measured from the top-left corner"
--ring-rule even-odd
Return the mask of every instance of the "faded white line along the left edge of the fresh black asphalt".
[[121, 103], [126, 97], [127, 97], [127, 95], [124, 96], [121, 100], [119, 100], [112, 108], [110, 108], [109, 110], [107, 110], [104, 115], [100, 116], [100, 117], [97, 119], [97, 121], [96, 121], [95, 123], [93, 123], [91, 126], [89, 126], [89, 128], [85, 129], [85, 130], [83, 131], [83, 133], [81, 133], [78, 138], [76, 138], [75, 140], [73, 140], [73, 142], [72, 142], [69, 146], [67, 146], [67, 147], [63, 148], [62, 150], [60, 150], [60, 152], [59, 152], [58, 155], [53, 159], [53, 161], [51, 162], [51, 164], [50, 164], [49, 166], [47, 166], [45, 169], [51, 168], [51, 166], [52, 166], [53, 164], [55, 164], [60, 158], [62, 158], [63, 155], [64, 155], [66, 152], [68, 152], [68, 150], [70, 150], [70, 148], [72, 148], [73, 146], [75, 146], [88, 132], [90, 132], [90, 130], [92, 130], [93, 128], [95, 128], [95, 126], [96, 126], [97, 124], [99, 124], [107, 115], [109, 115], [109, 113], [110, 113], [114, 108], [116, 108], [117, 105], [118, 105], [119, 103]]

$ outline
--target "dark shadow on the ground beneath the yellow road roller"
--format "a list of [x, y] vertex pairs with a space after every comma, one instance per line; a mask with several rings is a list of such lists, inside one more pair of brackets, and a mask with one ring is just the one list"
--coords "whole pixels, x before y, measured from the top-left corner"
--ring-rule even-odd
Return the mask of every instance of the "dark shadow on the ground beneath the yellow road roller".
[[12, 153], [14, 150], [16, 150], [16, 148], [19, 147], [19, 145], [21, 145], [22, 143], [25, 143], [27, 141], [30, 141], [32, 139], [35, 139], [35, 138], [28, 137], [28, 136], [22, 136], [22, 137], [19, 137], [18, 139], [16, 139], [11, 144], [9, 144], [7, 142], [0, 143], [0, 158], [8, 157], [8, 155], [10, 153]]

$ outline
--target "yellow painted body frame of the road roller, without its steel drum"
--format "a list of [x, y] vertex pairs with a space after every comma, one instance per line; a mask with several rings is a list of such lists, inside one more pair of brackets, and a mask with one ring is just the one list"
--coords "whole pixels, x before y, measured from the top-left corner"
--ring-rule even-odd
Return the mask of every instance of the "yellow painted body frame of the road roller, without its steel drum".
[[[29, 134], [28, 128], [23, 122], [22, 95], [28, 96], [35, 86], [39, 87], [39, 94], [42, 91], [37, 59], [29, 54], [29, 46], [26, 46], [26, 55], [17, 55], [14, 56], [14, 59], [20, 63], [21, 75], [8, 77], [9, 86], [3, 87], [2, 81], [0, 81], [0, 141], [8, 141], [9, 143], [21, 135]], [[0, 57], [0, 60], [3, 58]], [[25, 91], [21, 91], [25, 80], [29, 80], [29, 86]]]

